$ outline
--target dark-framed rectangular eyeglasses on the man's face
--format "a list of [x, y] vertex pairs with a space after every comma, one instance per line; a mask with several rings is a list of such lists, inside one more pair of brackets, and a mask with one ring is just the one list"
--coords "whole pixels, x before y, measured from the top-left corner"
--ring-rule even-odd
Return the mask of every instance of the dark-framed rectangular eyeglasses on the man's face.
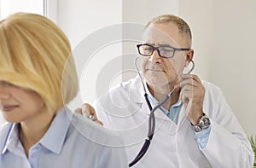
[[175, 54], [175, 51], [189, 50], [189, 49], [175, 48], [171, 46], [154, 47], [153, 45], [150, 45], [148, 43], [137, 44], [137, 49], [139, 54], [143, 56], [153, 55], [154, 50], [156, 49], [158, 52], [158, 55], [160, 55], [163, 58], [172, 58], [173, 55]]

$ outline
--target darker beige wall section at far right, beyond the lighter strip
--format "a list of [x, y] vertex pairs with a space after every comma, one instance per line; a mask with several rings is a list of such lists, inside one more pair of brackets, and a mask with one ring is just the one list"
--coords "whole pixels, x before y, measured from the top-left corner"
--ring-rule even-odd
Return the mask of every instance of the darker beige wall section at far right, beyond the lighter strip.
[[255, 7], [255, 0], [213, 3], [216, 59], [211, 59], [211, 79], [223, 89], [248, 135], [256, 134]]

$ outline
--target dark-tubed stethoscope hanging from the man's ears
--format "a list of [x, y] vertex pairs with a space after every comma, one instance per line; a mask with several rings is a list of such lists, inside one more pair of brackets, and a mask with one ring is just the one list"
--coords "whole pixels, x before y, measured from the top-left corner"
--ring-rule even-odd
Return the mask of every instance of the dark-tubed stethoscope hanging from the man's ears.
[[[170, 98], [170, 96], [172, 96], [172, 93], [173, 93], [174, 90], [176, 89], [176, 88], [173, 88], [173, 89], [169, 92], [169, 94], [166, 95], [166, 97], [165, 97], [162, 101], [160, 101], [160, 102], [153, 108], [153, 107], [151, 106], [151, 104], [150, 104], [150, 101], [148, 100], [148, 93], [147, 93], [146, 88], [145, 88], [145, 85], [144, 85], [144, 83], [143, 83], [142, 75], [141, 75], [141, 73], [139, 72], [138, 67], [137, 67], [137, 59], [138, 59], [139, 57], [141, 57], [141, 56], [139, 55], [139, 56], [137, 56], [137, 57], [135, 58], [134, 63], [135, 63], [135, 67], [136, 67], [136, 70], [137, 70], [137, 74], [138, 74], [138, 76], [139, 76], [139, 78], [140, 78], [140, 80], [141, 80], [141, 83], [143, 84], [144, 97], [145, 97], [145, 100], [146, 100], [146, 102], [147, 102], [148, 108], [149, 108], [149, 110], [150, 110], [149, 117], [148, 117], [148, 136], [146, 137], [145, 142], [144, 142], [144, 144], [143, 144], [143, 147], [141, 148], [141, 150], [140, 150], [139, 153], [137, 154], [136, 158], [133, 159], [133, 160], [131, 161], [131, 163], [129, 164], [129, 167], [131, 167], [132, 165], [137, 164], [137, 162], [138, 162], [140, 159], [142, 159], [143, 156], [144, 156], [144, 154], [146, 154], [146, 152], [148, 151], [150, 142], [151, 142], [151, 140], [152, 140], [152, 138], [153, 138], [153, 136], [154, 136], [154, 129], [155, 129], [154, 111], [157, 110], [159, 107], [161, 107], [161, 106]], [[192, 62], [192, 67], [191, 67], [191, 69], [189, 70], [188, 74], [189, 74], [190, 72], [192, 72], [192, 71], [194, 70], [194, 68], [195, 68], [195, 62], [192, 61], [192, 60], [191, 60], [191, 62]], [[178, 74], [177, 74], [177, 76], [178, 76]], [[171, 83], [177, 79], [177, 76], [171, 81]]]

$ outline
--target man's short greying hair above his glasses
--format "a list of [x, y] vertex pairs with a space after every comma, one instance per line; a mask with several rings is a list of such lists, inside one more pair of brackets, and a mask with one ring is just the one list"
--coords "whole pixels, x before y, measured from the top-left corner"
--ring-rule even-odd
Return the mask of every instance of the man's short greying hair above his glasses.
[[165, 24], [170, 22], [174, 23], [177, 26], [179, 33], [182, 35], [182, 41], [186, 45], [186, 47], [191, 48], [192, 34], [189, 25], [187, 24], [186, 21], [184, 21], [183, 19], [174, 14], [159, 15], [150, 20], [146, 27], [154, 24]]

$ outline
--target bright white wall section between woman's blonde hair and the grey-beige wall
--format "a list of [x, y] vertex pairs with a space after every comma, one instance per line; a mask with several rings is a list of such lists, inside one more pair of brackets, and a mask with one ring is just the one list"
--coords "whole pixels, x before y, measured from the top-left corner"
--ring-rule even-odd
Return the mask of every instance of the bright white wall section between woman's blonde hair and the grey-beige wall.
[[[70, 104], [74, 109], [82, 102], [92, 103], [96, 93], [102, 93], [102, 87], [110, 84], [105, 80], [101, 87], [96, 81], [100, 76], [106, 76], [102, 75], [102, 67], [121, 55], [121, 43], [116, 39], [121, 39], [122, 29], [114, 25], [122, 22], [122, 1], [61, 0], [58, 1], [57, 20], [70, 39], [76, 66], [79, 67], [81, 94]], [[121, 60], [115, 61], [118, 62], [116, 67], [121, 69]], [[119, 83], [117, 78], [115, 82]]]

